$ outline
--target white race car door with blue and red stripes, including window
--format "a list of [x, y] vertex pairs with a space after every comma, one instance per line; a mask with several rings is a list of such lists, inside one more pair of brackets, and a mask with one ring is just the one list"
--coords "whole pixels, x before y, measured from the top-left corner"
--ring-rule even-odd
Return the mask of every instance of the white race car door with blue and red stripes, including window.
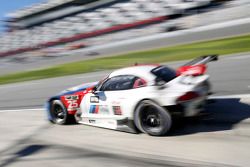
[[117, 117], [122, 116], [137, 77], [120, 75], [108, 78], [88, 93], [82, 105], [83, 117]]

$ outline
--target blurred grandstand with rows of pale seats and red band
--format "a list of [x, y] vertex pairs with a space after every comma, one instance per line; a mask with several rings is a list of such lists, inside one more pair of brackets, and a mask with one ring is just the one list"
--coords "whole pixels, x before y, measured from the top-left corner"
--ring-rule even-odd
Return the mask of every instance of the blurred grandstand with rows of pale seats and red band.
[[103, 44], [110, 38], [158, 33], [163, 31], [160, 25], [169, 19], [214, 2], [48, 0], [8, 14], [8, 31], [0, 37], [0, 57], [37, 50], [72, 50]]

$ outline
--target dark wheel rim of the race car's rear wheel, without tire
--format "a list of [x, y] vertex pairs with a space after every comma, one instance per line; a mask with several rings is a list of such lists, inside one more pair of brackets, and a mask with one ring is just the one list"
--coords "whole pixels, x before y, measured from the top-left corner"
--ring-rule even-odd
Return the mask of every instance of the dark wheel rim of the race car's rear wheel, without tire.
[[152, 106], [144, 107], [141, 112], [141, 124], [145, 130], [158, 130], [161, 128], [160, 113]]

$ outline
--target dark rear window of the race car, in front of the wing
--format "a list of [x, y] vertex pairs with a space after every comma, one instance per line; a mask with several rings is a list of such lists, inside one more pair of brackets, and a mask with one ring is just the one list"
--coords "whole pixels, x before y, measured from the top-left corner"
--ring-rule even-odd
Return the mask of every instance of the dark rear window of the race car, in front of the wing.
[[169, 82], [176, 77], [175, 71], [166, 66], [156, 67], [151, 71], [151, 73], [165, 82]]

